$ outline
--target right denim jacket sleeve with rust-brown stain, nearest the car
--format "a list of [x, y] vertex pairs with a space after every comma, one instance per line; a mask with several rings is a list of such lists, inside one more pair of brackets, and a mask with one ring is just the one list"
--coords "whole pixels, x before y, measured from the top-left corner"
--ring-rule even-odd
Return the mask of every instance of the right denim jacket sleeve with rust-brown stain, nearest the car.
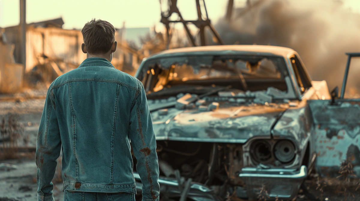
[[160, 186], [156, 140], [143, 84], [138, 81], [138, 94], [130, 111], [129, 137], [143, 184], [143, 201], [158, 201]]

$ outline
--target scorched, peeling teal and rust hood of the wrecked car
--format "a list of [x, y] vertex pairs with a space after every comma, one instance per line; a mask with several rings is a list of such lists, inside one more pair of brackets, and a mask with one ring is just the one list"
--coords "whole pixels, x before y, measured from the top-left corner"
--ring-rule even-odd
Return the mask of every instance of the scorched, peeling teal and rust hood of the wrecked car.
[[169, 108], [151, 113], [156, 140], [245, 143], [270, 137], [287, 104], [221, 106], [215, 111]]

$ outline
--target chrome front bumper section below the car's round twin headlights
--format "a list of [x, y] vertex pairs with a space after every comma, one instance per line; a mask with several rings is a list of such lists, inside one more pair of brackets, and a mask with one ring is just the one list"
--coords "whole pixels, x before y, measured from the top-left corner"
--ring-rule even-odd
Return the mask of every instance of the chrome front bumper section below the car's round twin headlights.
[[306, 166], [297, 169], [242, 168], [239, 177], [246, 184], [249, 200], [265, 197], [266, 200], [292, 200], [307, 176]]

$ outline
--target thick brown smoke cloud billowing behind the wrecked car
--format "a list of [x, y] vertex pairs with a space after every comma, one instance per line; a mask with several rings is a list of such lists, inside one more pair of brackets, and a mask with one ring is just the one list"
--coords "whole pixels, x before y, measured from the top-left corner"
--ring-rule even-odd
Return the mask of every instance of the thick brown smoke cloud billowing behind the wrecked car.
[[[312, 80], [341, 88], [347, 56], [360, 52], [360, 15], [341, 1], [252, 0], [215, 25], [225, 44], [283, 46], [300, 54]], [[360, 62], [351, 63], [347, 93], [360, 89]], [[356, 92], [357, 93], [357, 92]]]

